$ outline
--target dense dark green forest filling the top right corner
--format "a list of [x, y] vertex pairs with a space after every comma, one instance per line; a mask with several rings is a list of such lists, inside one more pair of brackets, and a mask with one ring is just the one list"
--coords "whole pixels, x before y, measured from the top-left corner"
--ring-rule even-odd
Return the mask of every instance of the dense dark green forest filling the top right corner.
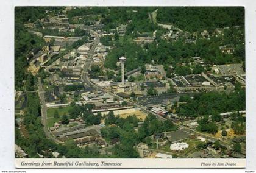
[[158, 23], [171, 23], [182, 30], [202, 31], [244, 26], [244, 7], [163, 7]]

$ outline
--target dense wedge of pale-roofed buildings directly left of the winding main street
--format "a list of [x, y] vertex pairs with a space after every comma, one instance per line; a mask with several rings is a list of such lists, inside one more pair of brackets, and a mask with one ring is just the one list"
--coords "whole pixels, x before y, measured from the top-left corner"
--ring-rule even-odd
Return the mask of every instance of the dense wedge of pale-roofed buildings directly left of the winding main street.
[[[45, 71], [49, 76], [46, 77], [46, 105], [48, 107], [66, 106], [73, 101], [77, 94], [82, 93], [84, 83], [82, 82], [82, 70], [85, 61], [88, 58], [88, 51], [90, 50], [90, 43], [80, 46], [78, 49], [73, 49], [62, 58], [55, 60], [51, 65], [45, 66]], [[76, 91], [69, 91], [65, 88], [76, 87]], [[63, 94], [67, 96], [68, 103], [60, 103], [59, 99]]]

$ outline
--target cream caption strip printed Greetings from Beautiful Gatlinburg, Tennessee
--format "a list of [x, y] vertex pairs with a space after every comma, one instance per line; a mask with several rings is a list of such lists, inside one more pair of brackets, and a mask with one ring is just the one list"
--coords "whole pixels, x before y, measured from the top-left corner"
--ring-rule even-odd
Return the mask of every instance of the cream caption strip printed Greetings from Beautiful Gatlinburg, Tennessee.
[[245, 168], [245, 158], [15, 158], [16, 168]]

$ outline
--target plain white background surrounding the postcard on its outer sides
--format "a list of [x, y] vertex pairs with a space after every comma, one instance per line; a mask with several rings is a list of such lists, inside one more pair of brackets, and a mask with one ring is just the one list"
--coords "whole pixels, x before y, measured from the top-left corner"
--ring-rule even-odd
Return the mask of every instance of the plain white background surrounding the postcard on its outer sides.
[[[200, 0], [194, 0], [194, 1], [118, 1], [118, 0], [112, 0], [112, 1], [63, 1], [63, 0], [55, 0], [54, 2], [51, 0], [46, 1], [29, 1], [29, 0], [10, 0], [10, 1], [3, 1], [1, 10], [1, 28], [2, 28], [2, 34], [1, 36], [4, 36], [3, 41], [1, 43], [1, 51], [5, 52], [5, 58], [8, 60], [1, 61], [0, 65], [0, 72], [3, 74], [1, 76], [1, 114], [2, 116], [7, 116], [5, 121], [1, 121], [0, 125], [2, 127], [1, 129], [1, 149], [0, 149], [0, 162], [1, 162], [1, 169], [10, 169], [13, 168], [13, 160], [15, 161], [15, 166], [18, 168], [18, 163], [21, 159], [13, 158], [14, 156], [14, 128], [13, 128], [13, 113], [14, 113], [14, 105], [13, 105], [13, 78], [14, 78], [14, 72], [13, 72], [13, 33], [14, 32], [8, 32], [13, 31], [13, 10], [14, 6], [16, 5], [48, 5], [48, 6], [54, 6], [54, 5], [221, 5], [221, 6], [238, 6], [242, 5], [246, 7], [246, 110], [247, 110], [247, 120], [246, 120], [246, 131], [247, 131], [247, 141], [246, 141], [246, 158], [247, 158], [247, 166], [249, 166], [250, 169], [256, 168], [255, 167], [255, 122], [256, 119], [254, 118], [254, 112], [256, 111], [255, 107], [255, 99], [256, 99], [256, 92], [255, 92], [255, 85], [256, 80], [254, 80], [255, 75], [255, 69], [256, 69], [256, 61], [255, 61], [255, 26], [254, 26], [254, 20], [255, 20], [255, 1], [234, 1], [234, 0], [226, 0], [226, 1], [200, 1]], [[5, 27], [4, 27], [5, 26]], [[7, 26], [7, 27], [6, 27]], [[5, 39], [6, 38], [6, 39]], [[9, 38], [9, 39], [7, 39]], [[10, 115], [10, 116], [8, 116]], [[254, 136], [254, 138], [252, 138]], [[26, 160], [26, 159], [22, 159]], [[37, 159], [32, 159], [37, 160]], [[40, 159], [45, 160], [45, 159]], [[54, 159], [59, 160], [59, 159]], [[71, 159], [74, 160], [74, 159]], [[83, 159], [84, 160], [84, 159]], [[88, 160], [88, 159], [85, 159]], [[91, 160], [91, 159], [89, 159]], [[100, 159], [103, 160], [103, 159]], [[104, 159], [105, 160], [105, 159]], [[132, 159], [129, 159], [132, 160]], [[154, 161], [155, 159], [152, 159]], [[161, 159], [163, 163], [165, 163], [165, 159]], [[178, 159], [173, 159], [171, 162], [176, 162]], [[193, 159], [195, 160], [195, 159]], [[204, 159], [205, 161], [208, 161], [210, 159]], [[222, 159], [218, 159], [222, 160]], [[233, 159], [229, 159], [233, 160]], [[238, 159], [234, 159], [238, 161]], [[140, 159], [140, 162], [143, 161], [143, 159]], [[182, 159], [182, 166], [175, 168], [196, 168], [194, 166], [185, 166], [187, 164], [191, 164], [191, 159], [189, 161], [185, 161], [185, 159]], [[245, 164], [245, 159], [241, 160]], [[144, 162], [144, 161], [143, 161]], [[239, 161], [240, 162], [240, 161]], [[151, 163], [151, 161], [150, 161]], [[149, 164], [149, 162], [148, 162]], [[177, 162], [176, 162], [177, 164]], [[23, 167], [25, 168], [25, 167]], [[27, 167], [26, 167], [27, 168]], [[149, 168], [149, 167], [146, 167]], [[202, 168], [202, 167], [201, 167]], [[248, 169], [248, 168], [247, 168]]]

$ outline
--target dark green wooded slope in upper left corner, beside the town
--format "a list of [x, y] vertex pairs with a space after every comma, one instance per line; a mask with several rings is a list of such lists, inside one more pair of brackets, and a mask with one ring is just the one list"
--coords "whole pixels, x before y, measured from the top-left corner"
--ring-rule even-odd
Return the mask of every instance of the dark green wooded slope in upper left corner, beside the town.
[[44, 44], [42, 38], [30, 34], [24, 23], [45, 18], [45, 10], [60, 10], [61, 7], [15, 7], [15, 89], [21, 88], [26, 79], [26, 55], [31, 49]]

